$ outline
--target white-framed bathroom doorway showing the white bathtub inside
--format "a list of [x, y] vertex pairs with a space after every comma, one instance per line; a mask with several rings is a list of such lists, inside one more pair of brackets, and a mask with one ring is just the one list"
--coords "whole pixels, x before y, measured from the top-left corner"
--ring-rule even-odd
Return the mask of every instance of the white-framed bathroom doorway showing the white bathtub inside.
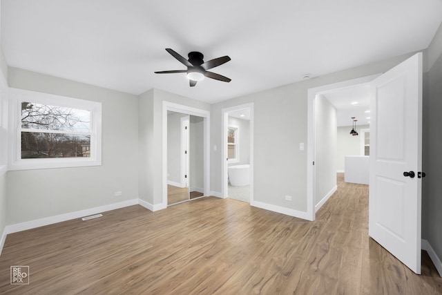
[[222, 196], [253, 203], [253, 104], [222, 109]]

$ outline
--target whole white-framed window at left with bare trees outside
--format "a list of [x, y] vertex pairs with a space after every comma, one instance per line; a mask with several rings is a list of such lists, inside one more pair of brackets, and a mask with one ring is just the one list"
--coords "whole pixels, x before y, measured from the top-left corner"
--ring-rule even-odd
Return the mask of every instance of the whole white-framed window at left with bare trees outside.
[[11, 169], [101, 164], [101, 103], [11, 89]]

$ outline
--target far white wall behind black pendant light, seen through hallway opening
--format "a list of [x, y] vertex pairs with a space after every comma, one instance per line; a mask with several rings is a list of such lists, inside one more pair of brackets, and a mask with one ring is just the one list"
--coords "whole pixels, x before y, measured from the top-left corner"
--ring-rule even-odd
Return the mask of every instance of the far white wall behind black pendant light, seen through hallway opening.
[[337, 154], [337, 169], [338, 172], [345, 170], [345, 156], [346, 155], [361, 155], [361, 129], [369, 129], [369, 125], [356, 126], [358, 136], [350, 135], [352, 126], [338, 127], [338, 154]]

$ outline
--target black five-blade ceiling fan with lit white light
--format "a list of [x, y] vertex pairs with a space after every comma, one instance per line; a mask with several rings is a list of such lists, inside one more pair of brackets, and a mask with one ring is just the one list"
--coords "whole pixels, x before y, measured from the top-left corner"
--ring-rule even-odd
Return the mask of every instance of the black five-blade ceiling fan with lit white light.
[[202, 53], [198, 53], [198, 51], [192, 51], [191, 53], [189, 53], [189, 59], [185, 59], [171, 48], [166, 48], [166, 51], [170, 53], [173, 57], [175, 57], [175, 59], [184, 64], [184, 66], [187, 67], [187, 70], [162, 70], [159, 72], [155, 72], [155, 74], [187, 73], [187, 77], [189, 78], [189, 84], [191, 87], [195, 86], [197, 82], [202, 80], [204, 77], [219, 80], [222, 82], [231, 82], [231, 79], [229, 79], [228, 77], [209, 72], [209, 69], [227, 63], [227, 61], [230, 60], [230, 57], [228, 57], [227, 55], [204, 62], [202, 60], [204, 58], [204, 55], [202, 55]]

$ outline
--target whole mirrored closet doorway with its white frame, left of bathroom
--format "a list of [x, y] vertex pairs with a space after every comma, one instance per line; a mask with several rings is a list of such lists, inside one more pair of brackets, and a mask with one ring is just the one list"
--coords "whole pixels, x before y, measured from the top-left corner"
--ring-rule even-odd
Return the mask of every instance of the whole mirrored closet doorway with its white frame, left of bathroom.
[[[163, 146], [166, 147], [163, 152], [162, 204], [167, 207], [209, 196], [210, 112], [163, 102], [162, 115]], [[172, 116], [170, 122], [175, 122], [173, 124], [177, 126], [176, 131], [169, 130], [169, 116]], [[175, 146], [175, 149], [171, 146]], [[177, 197], [170, 203], [169, 191]]]

